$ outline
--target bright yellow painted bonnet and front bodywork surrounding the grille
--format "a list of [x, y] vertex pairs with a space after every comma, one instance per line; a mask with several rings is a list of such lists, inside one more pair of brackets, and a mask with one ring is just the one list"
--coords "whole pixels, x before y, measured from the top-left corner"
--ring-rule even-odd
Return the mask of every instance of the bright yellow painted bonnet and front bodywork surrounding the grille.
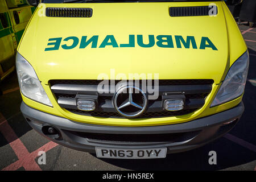
[[[152, 2], [152, 3], [41, 3], [32, 17], [26, 33], [19, 44], [18, 52], [32, 65], [42, 81], [43, 88], [53, 107], [32, 101], [22, 96], [23, 101], [35, 109], [65, 117], [77, 122], [112, 126], [154, 126], [192, 121], [230, 109], [242, 100], [236, 100], [210, 108], [210, 104], [224, 80], [230, 66], [247, 49], [240, 30], [224, 2], [214, 2], [218, 7], [216, 16], [171, 17], [168, 8], [173, 6], [208, 6], [209, 2]], [[89, 7], [93, 9], [91, 18], [53, 18], [45, 16], [46, 7]], [[59, 49], [45, 51], [51, 38], [82, 36], [88, 39], [98, 35], [97, 48], [91, 45], [80, 49]], [[107, 35], [113, 35], [118, 47], [99, 48]], [[135, 47], [120, 47], [129, 43], [129, 35], [135, 35]], [[153, 46], [139, 47], [136, 35], [143, 35], [144, 43], [148, 35], [193, 36], [197, 48], [184, 46], [174, 48]], [[217, 50], [200, 49], [202, 37], [207, 37]], [[61, 42], [70, 46], [72, 41]], [[53, 96], [49, 80], [92, 79], [100, 73], [110, 75], [124, 73], [159, 73], [159, 79], [213, 79], [212, 92], [205, 105], [194, 113], [176, 117], [121, 119], [100, 118], [73, 114], [62, 109]], [[153, 77], [154, 78], [154, 77]]]

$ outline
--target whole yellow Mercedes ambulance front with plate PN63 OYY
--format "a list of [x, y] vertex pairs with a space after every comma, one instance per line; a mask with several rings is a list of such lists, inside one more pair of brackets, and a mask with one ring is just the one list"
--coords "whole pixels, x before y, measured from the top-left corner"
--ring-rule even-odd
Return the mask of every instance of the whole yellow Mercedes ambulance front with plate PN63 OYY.
[[248, 68], [220, 0], [43, 0], [16, 55], [29, 125], [99, 158], [165, 158], [221, 137], [243, 113]]

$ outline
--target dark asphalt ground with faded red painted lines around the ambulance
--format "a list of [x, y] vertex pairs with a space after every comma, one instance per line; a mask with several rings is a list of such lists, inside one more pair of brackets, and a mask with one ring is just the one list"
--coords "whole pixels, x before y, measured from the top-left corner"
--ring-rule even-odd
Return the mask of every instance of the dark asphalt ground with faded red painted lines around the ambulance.
[[[28, 126], [20, 113], [22, 98], [14, 72], [2, 82], [0, 170], [256, 170], [256, 28], [241, 25], [240, 30], [250, 53], [245, 112], [224, 137], [166, 159], [98, 159], [50, 142]], [[46, 151], [46, 164], [38, 163], [39, 151]], [[216, 151], [217, 164], [208, 163], [209, 151]]]

